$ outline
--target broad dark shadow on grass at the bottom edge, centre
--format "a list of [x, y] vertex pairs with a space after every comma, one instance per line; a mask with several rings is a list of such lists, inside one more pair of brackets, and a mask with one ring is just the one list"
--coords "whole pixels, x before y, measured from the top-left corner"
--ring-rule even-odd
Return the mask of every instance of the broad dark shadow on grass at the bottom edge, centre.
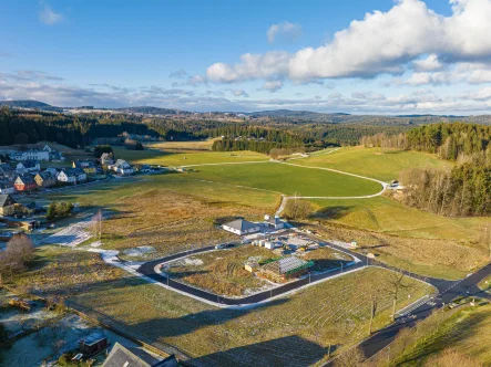
[[237, 348], [216, 352], [190, 360], [196, 366], [310, 366], [323, 359], [327, 349], [299, 336], [286, 336]]

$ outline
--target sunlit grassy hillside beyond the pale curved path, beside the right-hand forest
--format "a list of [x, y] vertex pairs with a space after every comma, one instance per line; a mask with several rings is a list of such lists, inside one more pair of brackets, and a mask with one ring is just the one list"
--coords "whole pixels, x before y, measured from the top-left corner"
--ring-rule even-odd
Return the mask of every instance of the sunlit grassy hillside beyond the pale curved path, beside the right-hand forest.
[[310, 158], [295, 160], [295, 164], [339, 169], [387, 182], [397, 179], [399, 172], [407, 168], [451, 165], [426, 153], [365, 147], [341, 148], [330, 154], [313, 154]]

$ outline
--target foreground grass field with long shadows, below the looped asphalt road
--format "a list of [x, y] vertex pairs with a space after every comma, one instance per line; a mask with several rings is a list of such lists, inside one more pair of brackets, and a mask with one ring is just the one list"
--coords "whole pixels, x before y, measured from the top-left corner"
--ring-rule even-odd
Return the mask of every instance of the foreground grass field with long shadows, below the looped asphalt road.
[[[217, 310], [139, 280], [93, 287], [72, 304], [151, 343], [176, 346], [195, 364], [307, 366], [325, 358], [328, 345], [339, 349], [366, 335], [369, 294], [386, 280], [386, 271], [370, 269], [246, 311]], [[415, 300], [429, 291], [410, 283], [398, 307], [408, 292]], [[391, 304], [379, 293], [377, 328], [389, 322]]]

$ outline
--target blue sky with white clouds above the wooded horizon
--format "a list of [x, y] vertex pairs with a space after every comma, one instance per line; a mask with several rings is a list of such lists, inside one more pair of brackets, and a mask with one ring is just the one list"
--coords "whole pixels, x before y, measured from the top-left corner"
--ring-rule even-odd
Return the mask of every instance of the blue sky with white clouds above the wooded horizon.
[[0, 99], [491, 113], [491, 0], [2, 0]]

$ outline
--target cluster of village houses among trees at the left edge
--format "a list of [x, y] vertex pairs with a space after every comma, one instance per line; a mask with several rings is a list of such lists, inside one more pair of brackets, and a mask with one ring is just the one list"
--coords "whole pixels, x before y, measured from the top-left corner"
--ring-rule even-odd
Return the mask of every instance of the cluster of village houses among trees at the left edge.
[[112, 178], [154, 172], [149, 165], [130, 165], [114, 159], [113, 153], [100, 158], [69, 161], [63, 153], [44, 145], [22, 151], [0, 154], [0, 241], [14, 233], [4, 229], [32, 231], [45, 224], [47, 203], [35, 199], [71, 187], [93, 185]]

